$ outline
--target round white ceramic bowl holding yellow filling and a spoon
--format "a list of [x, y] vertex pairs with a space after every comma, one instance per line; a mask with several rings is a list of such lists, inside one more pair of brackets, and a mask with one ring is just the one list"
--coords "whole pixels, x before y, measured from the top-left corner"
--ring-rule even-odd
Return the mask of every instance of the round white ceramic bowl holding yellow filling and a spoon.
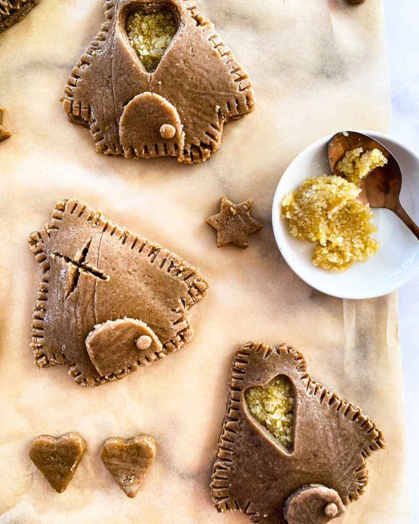
[[[398, 160], [403, 174], [400, 201], [412, 219], [419, 223], [419, 156], [408, 146], [388, 135], [361, 131], [383, 144]], [[419, 269], [419, 241], [403, 222], [387, 209], [374, 209], [373, 235], [380, 243], [378, 252], [366, 262], [356, 262], [343, 273], [313, 266], [315, 243], [301, 241], [289, 233], [281, 218], [281, 202], [286, 193], [308, 177], [330, 174], [327, 144], [330, 136], [307, 147], [288, 166], [278, 184], [272, 205], [272, 226], [286, 263], [313, 288], [334, 297], [362, 299], [380, 297], [403, 286]]]

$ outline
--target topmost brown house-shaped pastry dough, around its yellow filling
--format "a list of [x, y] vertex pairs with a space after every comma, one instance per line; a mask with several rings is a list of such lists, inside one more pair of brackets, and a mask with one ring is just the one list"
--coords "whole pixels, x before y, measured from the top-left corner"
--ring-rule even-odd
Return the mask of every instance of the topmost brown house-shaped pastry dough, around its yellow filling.
[[[107, 0], [105, 8], [107, 20], [65, 86], [70, 121], [89, 126], [97, 151], [105, 154], [206, 160], [220, 146], [224, 123], [253, 111], [248, 74], [192, 0]], [[178, 29], [148, 72], [138, 55], [141, 35], [131, 27], [133, 14], [162, 8]], [[166, 124], [174, 134], [160, 133]]]

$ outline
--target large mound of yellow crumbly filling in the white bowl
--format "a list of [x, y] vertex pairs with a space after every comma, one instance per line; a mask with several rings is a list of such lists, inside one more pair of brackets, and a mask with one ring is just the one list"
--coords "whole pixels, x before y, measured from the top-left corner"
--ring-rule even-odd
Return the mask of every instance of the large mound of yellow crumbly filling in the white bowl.
[[300, 240], [318, 242], [312, 262], [330, 271], [346, 271], [358, 260], [365, 262], [379, 243], [370, 236], [369, 205], [357, 199], [360, 189], [344, 178], [311, 177], [282, 200], [282, 216], [290, 233]]

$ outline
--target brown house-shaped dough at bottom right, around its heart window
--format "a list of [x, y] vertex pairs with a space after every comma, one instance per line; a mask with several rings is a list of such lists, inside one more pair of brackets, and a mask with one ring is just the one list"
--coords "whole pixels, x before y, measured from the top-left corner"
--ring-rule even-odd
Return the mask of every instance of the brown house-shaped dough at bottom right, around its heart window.
[[[249, 388], [277, 376], [287, 377], [294, 389], [291, 447], [252, 416], [246, 400]], [[366, 459], [383, 447], [376, 424], [316, 382], [301, 353], [285, 344], [250, 342], [231, 370], [211, 483], [215, 507], [240, 509], [260, 524], [325, 524], [362, 495]]]

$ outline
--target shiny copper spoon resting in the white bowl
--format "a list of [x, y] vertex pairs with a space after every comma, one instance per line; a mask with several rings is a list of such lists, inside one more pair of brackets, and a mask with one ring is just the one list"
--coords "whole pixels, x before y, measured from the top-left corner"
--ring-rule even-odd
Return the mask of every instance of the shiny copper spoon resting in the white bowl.
[[343, 176], [336, 169], [336, 164], [343, 158], [346, 151], [356, 147], [362, 147], [364, 152], [377, 148], [387, 158], [387, 163], [383, 167], [373, 169], [370, 174], [361, 179], [359, 200], [364, 204], [369, 204], [370, 208], [389, 209], [409, 227], [410, 231], [419, 240], [419, 227], [403, 209], [399, 200], [402, 187], [400, 166], [391, 152], [377, 140], [355, 131], [345, 131], [333, 135], [327, 147], [327, 157], [332, 173], [339, 177]]

